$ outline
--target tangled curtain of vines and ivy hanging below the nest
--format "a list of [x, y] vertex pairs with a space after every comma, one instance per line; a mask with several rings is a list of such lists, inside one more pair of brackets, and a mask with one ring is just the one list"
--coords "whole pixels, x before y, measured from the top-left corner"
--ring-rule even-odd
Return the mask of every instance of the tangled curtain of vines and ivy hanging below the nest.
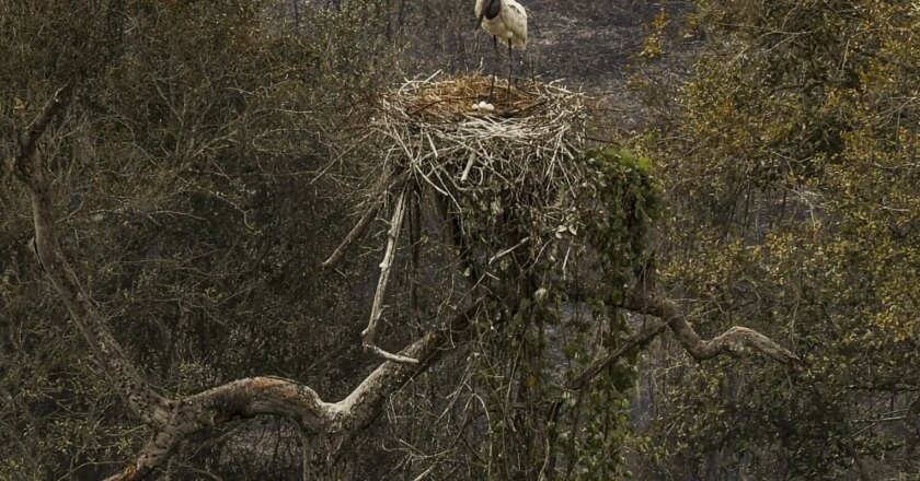
[[[625, 149], [594, 149], [571, 162], [564, 183], [509, 162], [501, 176], [456, 195], [469, 269], [486, 273], [465, 367], [488, 425], [481, 457], [469, 461], [483, 478], [625, 474], [637, 353], [576, 392], [564, 384], [632, 332], [617, 306], [652, 258], [660, 186], [651, 161]], [[579, 298], [573, 288], [582, 283], [602, 289]]]

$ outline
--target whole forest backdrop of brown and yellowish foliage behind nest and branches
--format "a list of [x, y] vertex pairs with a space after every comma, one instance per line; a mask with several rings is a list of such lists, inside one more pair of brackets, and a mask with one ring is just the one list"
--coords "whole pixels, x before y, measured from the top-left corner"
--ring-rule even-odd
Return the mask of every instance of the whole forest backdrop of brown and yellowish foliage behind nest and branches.
[[[584, 89], [591, 142], [642, 186], [629, 196], [654, 197], [629, 231], [642, 271], [629, 282], [675, 300], [703, 338], [745, 326], [802, 363], [698, 362], [664, 333], [565, 397], [542, 388], [564, 374], [551, 361], [613, 350], [654, 316], [575, 316], [556, 347], [568, 326], [554, 318], [550, 341], [522, 331], [514, 344], [540, 347], [527, 362], [480, 337], [394, 387], [336, 476], [917, 479], [920, 8], [527, 7], [521, 81]], [[71, 98], [38, 140], [61, 249], [145, 383], [187, 396], [275, 375], [337, 400], [380, 364], [359, 336], [386, 222], [320, 266], [379, 174], [366, 136], [378, 95], [438, 70], [503, 71], [474, 26], [472, 4], [446, 0], [0, 0], [0, 479], [125, 473], [150, 435], [33, 251], [16, 165], [56, 92]], [[438, 244], [439, 228], [423, 235]], [[394, 280], [406, 314], [379, 336], [396, 350], [432, 328], [410, 297], [457, 282], [442, 280], [448, 250], [423, 261], [421, 292]], [[487, 396], [508, 386], [530, 397]], [[556, 406], [584, 419], [554, 419]], [[154, 474], [306, 477], [297, 423], [248, 418], [184, 439]], [[534, 424], [547, 418], [559, 425]], [[559, 446], [550, 469], [544, 443]]]

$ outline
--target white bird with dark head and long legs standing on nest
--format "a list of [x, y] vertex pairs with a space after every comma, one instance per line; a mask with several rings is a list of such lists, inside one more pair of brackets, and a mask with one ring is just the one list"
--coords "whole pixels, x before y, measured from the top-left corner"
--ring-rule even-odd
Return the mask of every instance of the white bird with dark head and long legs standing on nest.
[[[492, 45], [498, 52], [498, 39], [508, 44], [508, 102], [511, 98], [511, 47], [527, 48], [527, 10], [515, 0], [476, 0], [479, 23], [492, 35]], [[488, 98], [495, 91], [495, 72], [492, 72], [492, 86]]]

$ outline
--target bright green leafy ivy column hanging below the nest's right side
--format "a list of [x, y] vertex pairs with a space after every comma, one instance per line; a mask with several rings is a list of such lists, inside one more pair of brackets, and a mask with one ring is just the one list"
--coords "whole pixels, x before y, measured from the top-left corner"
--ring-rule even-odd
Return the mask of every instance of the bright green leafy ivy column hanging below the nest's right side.
[[[596, 209], [584, 211], [584, 222], [608, 291], [591, 301], [590, 318], [603, 322], [601, 336], [593, 342], [598, 326], [583, 322], [567, 344], [567, 353], [579, 368], [597, 352], [595, 342], [609, 352], [632, 331], [626, 314], [617, 306], [628, 290], [636, 289], [651, 258], [648, 236], [659, 212], [660, 195], [651, 161], [628, 149], [589, 150], [583, 162], [591, 167], [597, 201]], [[633, 435], [629, 415], [639, 378], [637, 356], [637, 351], [629, 353], [568, 400], [584, 417], [584, 434], [573, 435], [576, 442], [566, 451], [582, 468], [567, 472], [573, 479], [622, 479], [631, 474], [625, 469], [624, 448]]]

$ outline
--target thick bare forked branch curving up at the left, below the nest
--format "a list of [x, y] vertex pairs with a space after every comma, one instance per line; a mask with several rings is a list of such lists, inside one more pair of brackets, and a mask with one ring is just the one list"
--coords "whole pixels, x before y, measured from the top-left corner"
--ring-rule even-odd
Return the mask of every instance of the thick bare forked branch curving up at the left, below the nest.
[[[389, 354], [395, 362], [382, 363], [352, 395], [335, 403], [324, 402], [308, 386], [271, 376], [234, 380], [183, 399], [161, 396], [143, 379], [115, 339], [104, 317], [90, 301], [89, 292], [68, 263], [57, 238], [53, 177], [43, 162], [38, 142], [50, 122], [67, 106], [69, 96], [69, 86], [59, 90], [38, 113], [20, 139], [20, 152], [11, 169], [23, 181], [31, 197], [38, 261], [70, 313], [73, 324], [90, 345], [111, 387], [151, 429], [151, 436], [138, 457], [111, 479], [142, 479], [168, 459], [189, 435], [219, 427], [237, 419], [257, 415], [290, 419], [310, 436], [340, 439], [336, 447], [344, 449], [344, 443], [379, 417], [386, 399], [435, 363], [440, 353], [456, 345], [456, 335], [469, 325], [474, 312], [459, 313], [447, 326], [422, 336], [402, 353]], [[402, 212], [404, 203], [404, 196], [401, 196], [398, 211]], [[402, 215], [399, 212], [394, 215], [393, 225], [402, 223]], [[395, 243], [399, 227], [391, 228], [390, 237]], [[390, 246], [388, 265], [392, 263], [394, 250], [395, 245]], [[387, 272], [389, 275], [389, 268]], [[386, 281], [383, 285], [386, 288]], [[378, 318], [379, 310], [382, 310], [380, 303], [382, 295], [377, 304]], [[413, 363], [406, 363], [405, 360]]]

